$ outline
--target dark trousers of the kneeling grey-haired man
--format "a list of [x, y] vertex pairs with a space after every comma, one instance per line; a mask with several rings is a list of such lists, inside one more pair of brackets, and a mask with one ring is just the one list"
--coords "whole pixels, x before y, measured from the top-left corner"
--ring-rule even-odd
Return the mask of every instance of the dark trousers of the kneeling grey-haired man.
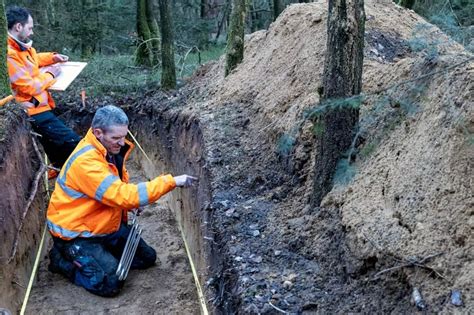
[[[130, 227], [122, 224], [117, 232], [103, 237], [79, 237], [71, 241], [53, 237], [52, 250], [59, 250], [62, 257], [50, 255], [50, 259], [66, 259], [73, 263], [71, 267], [74, 266], [75, 270], [72, 276], [70, 270], [62, 271], [69, 280], [93, 294], [112, 297], [117, 295], [123, 286], [123, 281], [118, 280], [115, 272], [129, 233]], [[153, 266], [155, 261], [156, 251], [140, 239], [131, 269], [145, 269]], [[51, 263], [65, 268], [64, 263]]]

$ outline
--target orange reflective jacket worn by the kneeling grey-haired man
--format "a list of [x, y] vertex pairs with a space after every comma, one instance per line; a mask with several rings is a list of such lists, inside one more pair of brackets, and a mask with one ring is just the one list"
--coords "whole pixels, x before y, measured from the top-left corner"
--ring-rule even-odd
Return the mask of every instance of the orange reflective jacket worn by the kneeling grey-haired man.
[[176, 187], [171, 175], [129, 184], [125, 161], [132, 149], [126, 141], [121, 180], [117, 167], [106, 160], [107, 150], [89, 129], [56, 180], [47, 215], [53, 236], [70, 240], [116, 232], [125, 211], [153, 203]]

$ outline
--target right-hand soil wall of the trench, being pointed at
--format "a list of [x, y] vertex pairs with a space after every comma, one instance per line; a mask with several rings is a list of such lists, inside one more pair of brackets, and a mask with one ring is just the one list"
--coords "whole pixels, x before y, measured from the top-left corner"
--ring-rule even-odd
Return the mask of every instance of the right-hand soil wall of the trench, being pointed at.
[[[166, 202], [176, 215], [184, 232], [199, 282], [207, 300], [214, 292], [205, 283], [220, 265], [218, 244], [210, 226], [210, 176], [205, 166], [204, 144], [199, 121], [183, 112], [156, 112], [133, 114], [130, 130], [152, 160], [150, 163], [140, 149], [133, 157], [151, 179], [160, 174], [188, 174], [199, 177], [199, 184], [190, 189], [177, 188], [159, 202]], [[212, 311], [212, 305], [208, 305]]]

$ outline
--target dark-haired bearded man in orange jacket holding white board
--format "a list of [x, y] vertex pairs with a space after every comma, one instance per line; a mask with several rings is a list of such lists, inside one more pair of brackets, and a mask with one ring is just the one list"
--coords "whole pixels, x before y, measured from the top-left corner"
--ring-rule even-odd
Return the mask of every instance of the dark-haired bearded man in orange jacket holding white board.
[[[32, 47], [33, 18], [25, 8], [12, 6], [6, 11], [8, 23], [8, 72], [13, 95], [31, 118], [33, 130], [53, 166], [61, 168], [81, 138], [51, 111], [55, 103], [48, 88], [61, 73], [61, 54], [37, 53]], [[50, 173], [50, 177], [55, 174]]]

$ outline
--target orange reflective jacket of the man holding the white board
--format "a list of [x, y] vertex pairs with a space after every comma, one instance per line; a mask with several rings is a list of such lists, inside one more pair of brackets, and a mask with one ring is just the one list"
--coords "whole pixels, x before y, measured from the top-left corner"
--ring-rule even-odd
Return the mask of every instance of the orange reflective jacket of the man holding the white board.
[[31, 102], [28, 115], [36, 115], [54, 108], [54, 100], [47, 89], [56, 82], [51, 73], [42, 73], [40, 67], [54, 63], [54, 53], [36, 53], [8, 36], [8, 73], [13, 94], [18, 102]]

